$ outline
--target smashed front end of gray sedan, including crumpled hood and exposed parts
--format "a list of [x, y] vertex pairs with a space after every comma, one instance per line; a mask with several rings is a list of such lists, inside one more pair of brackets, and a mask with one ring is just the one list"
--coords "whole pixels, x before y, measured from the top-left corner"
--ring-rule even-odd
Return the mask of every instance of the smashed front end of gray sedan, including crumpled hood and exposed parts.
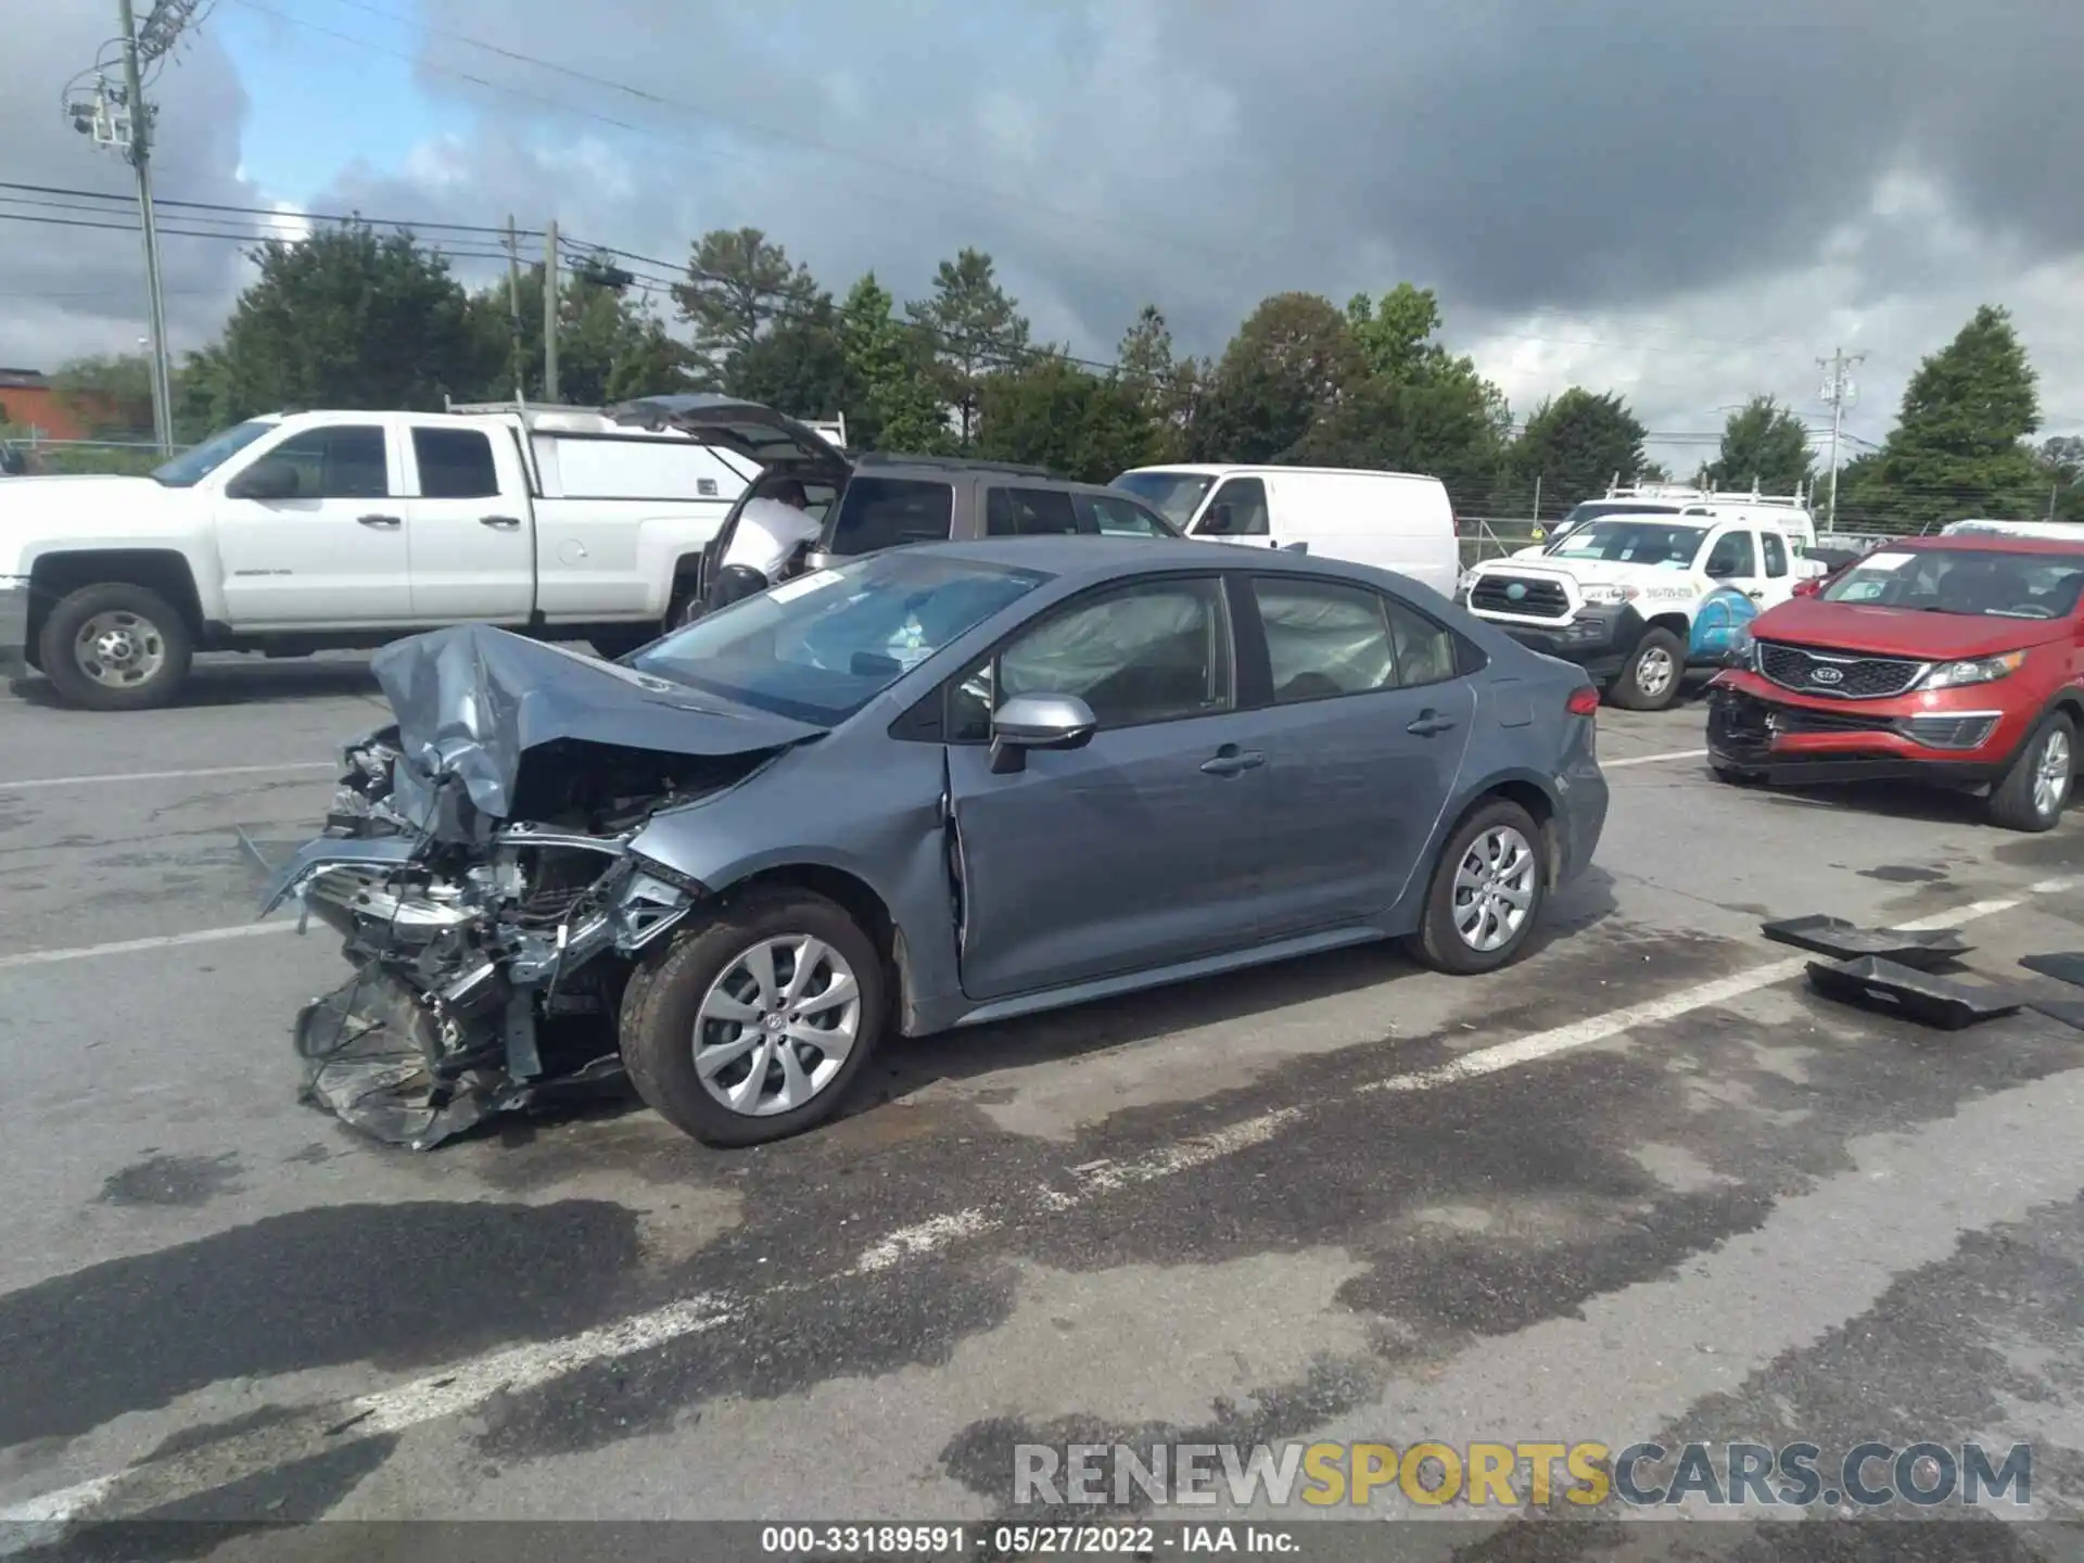
[[325, 834], [260, 907], [294, 900], [352, 967], [296, 1017], [302, 1098], [425, 1150], [619, 1088], [631, 973], [709, 900], [631, 842], [821, 729], [479, 625], [373, 669], [398, 723], [348, 748]]

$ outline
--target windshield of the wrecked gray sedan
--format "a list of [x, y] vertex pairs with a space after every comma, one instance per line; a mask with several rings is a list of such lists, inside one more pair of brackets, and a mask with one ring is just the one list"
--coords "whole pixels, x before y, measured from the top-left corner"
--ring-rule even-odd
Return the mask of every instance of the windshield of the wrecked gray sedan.
[[717, 609], [631, 665], [832, 727], [1046, 579], [971, 559], [867, 554]]

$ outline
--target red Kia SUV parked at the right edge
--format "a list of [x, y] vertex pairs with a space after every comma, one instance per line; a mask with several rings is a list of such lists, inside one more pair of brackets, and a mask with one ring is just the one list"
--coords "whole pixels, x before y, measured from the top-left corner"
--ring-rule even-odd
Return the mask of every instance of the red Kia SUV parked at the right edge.
[[1709, 686], [1723, 782], [1915, 777], [1988, 788], [1990, 821], [2049, 829], [2084, 731], [2084, 542], [1888, 544], [1751, 621]]

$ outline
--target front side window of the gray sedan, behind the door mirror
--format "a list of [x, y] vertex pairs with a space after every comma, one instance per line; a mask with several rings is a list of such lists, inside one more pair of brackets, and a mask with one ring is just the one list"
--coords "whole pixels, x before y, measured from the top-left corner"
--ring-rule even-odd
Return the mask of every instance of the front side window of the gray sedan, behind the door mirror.
[[1127, 586], [1084, 598], [948, 686], [946, 742], [982, 744], [1017, 694], [1075, 694], [1100, 731], [1209, 717], [1234, 704], [1219, 579]]

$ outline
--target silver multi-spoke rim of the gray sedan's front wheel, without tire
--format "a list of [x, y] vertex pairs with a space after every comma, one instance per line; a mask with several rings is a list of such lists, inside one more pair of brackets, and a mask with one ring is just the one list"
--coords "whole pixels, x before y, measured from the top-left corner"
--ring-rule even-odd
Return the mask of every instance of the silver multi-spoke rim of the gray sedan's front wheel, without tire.
[[861, 1034], [861, 984], [809, 934], [738, 954], [694, 1017], [694, 1073], [734, 1113], [790, 1113], [840, 1073]]

